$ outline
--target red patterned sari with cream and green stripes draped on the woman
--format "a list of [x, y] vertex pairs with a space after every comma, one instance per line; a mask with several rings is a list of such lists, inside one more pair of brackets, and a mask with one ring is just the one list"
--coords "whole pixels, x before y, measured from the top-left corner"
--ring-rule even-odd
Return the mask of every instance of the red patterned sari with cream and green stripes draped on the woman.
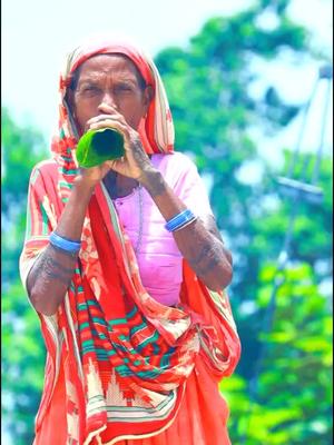
[[[112, 51], [125, 49], [104, 47]], [[71, 69], [77, 66], [72, 58]], [[148, 76], [143, 67], [141, 72]], [[150, 76], [161, 92], [157, 73]], [[141, 127], [145, 147], [153, 147], [150, 123], [161, 115], [164, 100], [156, 96]], [[60, 123], [55, 160], [37, 166], [30, 179], [23, 283], [57, 227], [78, 172], [66, 108]], [[151, 149], [170, 151], [171, 136], [163, 131], [165, 145], [155, 136]], [[229, 444], [228, 408], [218, 383], [235, 369], [240, 347], [226, 293], [207, 289], [184, 261], [181, 304], [167, 307], [151, 298], [101, 186], [89, 204], [81, 240], [63, 303], [55, 316], [39, 314], [48, 354], [35, 445]]]

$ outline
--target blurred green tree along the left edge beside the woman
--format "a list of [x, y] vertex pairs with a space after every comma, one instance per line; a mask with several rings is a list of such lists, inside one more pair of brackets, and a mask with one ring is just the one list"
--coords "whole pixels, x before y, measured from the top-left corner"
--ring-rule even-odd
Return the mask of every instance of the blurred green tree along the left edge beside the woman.
[[3, 422], [14, 443], [32, 443], [33, 418], [42, 388], [45, 347], [38, 317], [19, 278], [29, 176], [46, 157], [46, 142], [35, 128], [18, 126], [2, 109], [1, 177], [1, 339]]

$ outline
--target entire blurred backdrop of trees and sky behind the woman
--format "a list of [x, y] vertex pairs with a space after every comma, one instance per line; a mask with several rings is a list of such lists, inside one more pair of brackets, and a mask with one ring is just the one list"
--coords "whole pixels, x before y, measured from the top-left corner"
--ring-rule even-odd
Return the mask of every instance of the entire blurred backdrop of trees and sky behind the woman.
[[176, 149], [233, 253], [243, 355], [220, 384], [233, 444], [333, 443], [332, 13], [331, 0], [2, 1], [6, 445], [32, 442], [46, 358], [18, 271], [29, 175], [50, 156], [65, 52], [108, 30], [154, 57]]

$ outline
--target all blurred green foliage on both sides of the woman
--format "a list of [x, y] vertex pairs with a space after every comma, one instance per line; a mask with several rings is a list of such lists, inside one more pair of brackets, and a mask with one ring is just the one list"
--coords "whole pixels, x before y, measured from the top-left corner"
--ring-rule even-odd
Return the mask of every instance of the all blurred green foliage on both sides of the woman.
[[[234, 255], [230, 301], [243, 344], [237, 372], [220, 388], [230, 406], [235, 444], [327, 445], [332, 431], [332, 280], [331, 159], [324, 157], [321, 205], [297, 202], [289, 263], [282, 273], [272, 330], [263, 320], [276, 276], [292, 209], [279, 191], [284, 166], [273, 168], [257, 152], [253, 128], [274, 134], [288, 125], [299, 106], [285, 103], [275, 86], [261, 97], [250, 93], [261, 79], [254, 60], [279, 59], [282, 51], [310, 55], [305, 29], [286, 16], [287, 0], [262, 0], [229, 18], [208, 20], [187, 48], [166, 48], [156, 57], [176, 127], [177, 149], [188, 152], [213, 184], [210, 201]], [[269, 30], [263, 14], [275, 14]], [[2, 409], [16, 445], [32, 441], [33, 416], [42, 387], [45, 347], [38, 317], [18, 276], [23, 243], [28, 178], [47, 157], [47, 144], [33, 128], [22, 128], [2, 110]], [[259, 166], [250, 178], [247, 169]], [[308, 174], [314, 155], [303, 155], [296, 177]], [[306, 175], [306, 177], [310, 177]], [[258, 393], [249, 399], [249, 379], [261, 346], [266, 354]]]

